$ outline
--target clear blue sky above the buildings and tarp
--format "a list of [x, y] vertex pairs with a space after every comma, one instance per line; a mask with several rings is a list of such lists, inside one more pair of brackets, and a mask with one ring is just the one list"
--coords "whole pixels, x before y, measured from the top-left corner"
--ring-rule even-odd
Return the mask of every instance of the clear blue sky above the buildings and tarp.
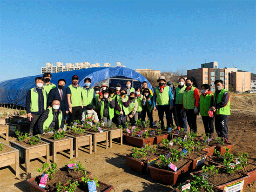
[[0, 81], [46, 62], [256, 73], [255, 1], [0, 1]]

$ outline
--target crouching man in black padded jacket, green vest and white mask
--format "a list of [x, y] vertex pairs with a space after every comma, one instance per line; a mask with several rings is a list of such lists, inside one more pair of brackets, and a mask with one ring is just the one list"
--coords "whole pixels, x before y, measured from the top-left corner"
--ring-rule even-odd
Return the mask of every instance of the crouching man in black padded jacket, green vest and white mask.
[[59, 110], [61, 101], [59, 99], [54, 99], [52, 102], [52, 107], [44, 111], [38, 120], [38, 133], [45, 133], [45, 128], [50, 127], [53, 131], [62, 131], [64, 126], [64, 118], [62, 116], [61, 110]]

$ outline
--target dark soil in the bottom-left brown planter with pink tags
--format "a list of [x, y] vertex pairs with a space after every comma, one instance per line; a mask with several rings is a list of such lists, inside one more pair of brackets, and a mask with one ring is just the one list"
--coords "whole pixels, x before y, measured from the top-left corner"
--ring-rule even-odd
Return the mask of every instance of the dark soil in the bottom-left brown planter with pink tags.
[[[80, 172], [72, 172], [70, 171], [69, 173], [67, 172], [67, 169], [63, 168], [61, 170], [58, 170], [53, 179], [52, 180], [48, 180], [45, 186], [45, 189], [50, 189], [52, 187], [56, 187], [56, 185], [58, 185], [60, 182], [61, 184], [67, 183], [67, 181], [69, 179], [74, 180], [74, 179], [78, 179], [80, 177], [83, 177], [84, 174], [80, 171]], [[35, 185], [39, 185], [40, 183], [40, 179], [41, 177], [36, 177], [34, 180], [32, 180], [32, 182]]]

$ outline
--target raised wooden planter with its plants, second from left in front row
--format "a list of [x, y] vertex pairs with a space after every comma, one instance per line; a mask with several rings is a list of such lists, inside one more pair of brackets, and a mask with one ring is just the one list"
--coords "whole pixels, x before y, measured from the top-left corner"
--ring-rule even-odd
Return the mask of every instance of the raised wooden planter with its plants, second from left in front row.
[[25, 160], [26, 172], [30, 172], [30, 160], [46, 156], [46, 162], [50, 162], [49, 143], [41, 141], [40, 135], [29, 137], [28, 133], [15, 132], [18, 139], [11, 140], [10, 145], [18, 149], [20, 159]]

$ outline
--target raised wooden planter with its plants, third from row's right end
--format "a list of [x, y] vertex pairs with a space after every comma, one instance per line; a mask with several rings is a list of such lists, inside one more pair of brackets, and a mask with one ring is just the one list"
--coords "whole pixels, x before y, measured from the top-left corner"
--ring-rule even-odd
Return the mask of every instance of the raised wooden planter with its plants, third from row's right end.
[[66, 135], [73, 138], [74, 157], [78, 157], [78, 147], [81, 146], [89, 146], [89, 154], [92, 153], [92, 135], [85, 133], [84, 129], [74, 125], [68, 127]]

